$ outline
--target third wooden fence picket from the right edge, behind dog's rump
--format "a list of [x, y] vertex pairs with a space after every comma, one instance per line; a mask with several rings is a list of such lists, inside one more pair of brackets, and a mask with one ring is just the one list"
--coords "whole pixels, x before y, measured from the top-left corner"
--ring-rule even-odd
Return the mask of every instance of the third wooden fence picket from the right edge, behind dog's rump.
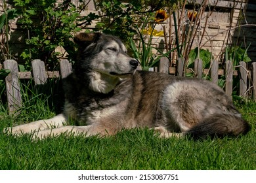
[[226, 92], [226, 95], [231, 96], [232, 90], [233, 90], [233, 63], [230, 60], [227, 60], [225, 64], [225, 76], [226, 76], [225, 92]]

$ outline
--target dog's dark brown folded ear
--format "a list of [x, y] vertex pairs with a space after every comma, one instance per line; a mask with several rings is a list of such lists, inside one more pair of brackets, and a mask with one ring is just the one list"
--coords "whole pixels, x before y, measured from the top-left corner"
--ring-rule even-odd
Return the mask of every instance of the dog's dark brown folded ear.
[[98, 40], [100, 35], [102, 35], [102, 33], [79, 33], [75, 35], [74, 41], [80, 46], [86, 46]]

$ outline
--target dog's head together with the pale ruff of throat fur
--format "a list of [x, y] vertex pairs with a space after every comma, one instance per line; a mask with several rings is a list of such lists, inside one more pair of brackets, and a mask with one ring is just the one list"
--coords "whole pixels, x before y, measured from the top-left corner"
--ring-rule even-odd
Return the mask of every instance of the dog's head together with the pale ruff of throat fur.
[[122, 78], [133, 75], [139, 65], [127, 55], [124, 44], [112, 35], [103, 33], [79, 33], [74, 37], [79, 46], [79, 58], [75, 62], [76, 75], [89, 80], [89, 88], [108, 93]]

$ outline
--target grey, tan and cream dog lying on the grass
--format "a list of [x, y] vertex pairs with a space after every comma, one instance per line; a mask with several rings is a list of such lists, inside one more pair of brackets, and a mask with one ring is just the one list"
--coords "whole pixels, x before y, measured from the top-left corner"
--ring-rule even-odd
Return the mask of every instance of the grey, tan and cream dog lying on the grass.
[[205, 138], [249, 131], [230, 97], [212, 82], [137, 71], [139, 61], [112, 35], [79, 33], [74, 41], [77, 61], [73, 73], [62, 79], [62, 114], [12, 127], [12, 134], [33, 133], [39, 139], [61, 133], [104, 137], [148, 127], [160, 137]]

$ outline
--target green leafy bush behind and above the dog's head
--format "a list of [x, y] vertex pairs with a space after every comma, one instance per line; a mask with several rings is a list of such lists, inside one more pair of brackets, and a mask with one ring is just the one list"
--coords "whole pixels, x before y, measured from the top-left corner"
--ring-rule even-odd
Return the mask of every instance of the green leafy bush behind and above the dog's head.
[[80, 16], [80, 12], [87, 8], [90, 0], [79, 0], [79, 6], [64, 0], [14, 0], [20, 18], [18, 22], [28, 31], [26, 48], [21, 57], [26, 63], [26, 69], [30, 69], [30, 61], [39, 58], [45, 61], [48, 69], [54, 69], [58, 65], [57, 59], [62, 57], [56, 52], [58, 46], [62, 46], [69, 59], [75, 59], [75, 45], [72, 37], [81, 29], [87, 29], [93, 20], [100, 22], [96, 24], [95, 30], [104, 33], [118, 35], [123, 41], [128, 41], [135, 34], [135, 24], [143, 19], [143, 14], [154, 12], [162, 7], [173, 7], [175, 3], [182, 0], [171, 1], [96, 1], [96, 7], [100, 8], [102, 14], [90, 13]]

